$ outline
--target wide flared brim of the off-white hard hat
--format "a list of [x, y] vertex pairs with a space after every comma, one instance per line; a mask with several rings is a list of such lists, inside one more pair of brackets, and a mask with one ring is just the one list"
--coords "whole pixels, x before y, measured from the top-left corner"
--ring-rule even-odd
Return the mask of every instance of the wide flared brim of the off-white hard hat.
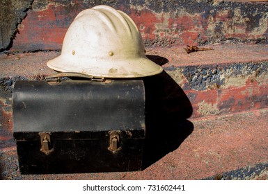
[[[49, 60], [47, 67], [61, 72], [84, 73], [102, 78], [141, 78], [161, 73], [163, 69], [148, 58], [134, 58], [129, 60], [86, 60], [73, 61], [66, 56], [59, 55]], [[63, 68], [64, 67], [64, 68]], [[105, 71], [102, 67], [105, 67]]]

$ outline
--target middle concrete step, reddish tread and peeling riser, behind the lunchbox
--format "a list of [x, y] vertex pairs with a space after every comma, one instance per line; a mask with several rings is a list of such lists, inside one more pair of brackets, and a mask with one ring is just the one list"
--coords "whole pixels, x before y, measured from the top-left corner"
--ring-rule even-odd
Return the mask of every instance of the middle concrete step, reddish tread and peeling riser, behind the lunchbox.
[[[267, 45], [211, 45], [207, 48], [214, 50], [187, 54], [182, 46], [147, 48], [148, 58], [160, 64], [172, 78], [166, 85], [174, 82], [173, 85], [177, 84], [189, 98], [193, 107], [191, 118], [268, 107]], [[1, 87], [11, 89], [14, 80], [40, 80], [54, 73], [46, 62], [59, 54], [54, 51], [1, 54]], [[168, 77], [159, 76], [160, 80]], [[167, 92], [171, 91], [164, 87], [161, 92], [170, 96]]]

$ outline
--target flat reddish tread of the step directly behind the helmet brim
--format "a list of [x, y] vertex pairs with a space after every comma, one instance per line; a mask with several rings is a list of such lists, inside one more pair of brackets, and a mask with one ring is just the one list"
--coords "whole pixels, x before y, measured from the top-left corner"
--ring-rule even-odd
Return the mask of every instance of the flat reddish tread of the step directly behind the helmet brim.
[[[160, 64], [166, 71], [178, 67], [217, 66], [246, 64], [268, 61], [267, 44], [223, 44], [200, 46], [213, 48], [187, 54], [186, 46], [148, 47], [148, 58]], [[39, 51], [33, 53], [0, 53], [0, 78], [8, 76], [35, 76], [53, 73], [46, 66], [48, 60], [60, 55], [60, 51]], [[175, 78], [180, 81], [180, 78]]]

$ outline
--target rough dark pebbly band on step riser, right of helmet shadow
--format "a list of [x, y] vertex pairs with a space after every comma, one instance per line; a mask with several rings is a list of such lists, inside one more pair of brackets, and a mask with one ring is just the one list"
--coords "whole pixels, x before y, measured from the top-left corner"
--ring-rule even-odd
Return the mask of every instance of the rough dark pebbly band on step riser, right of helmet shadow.
[[[230, 86], [241, 87], [249, 79], [251, 82], [267, 80], [267, 70], [267, 62], [237, 62], [226, 67], [215, 64], [214, 67], [210, 65], [198, 68], [196, 66], [176, 68], [174, 73], [183, 75], [182, 78], [187, 78], [192, 89], [206, 90]], [[171, 71], [171, 73], [173, 72]], [[181, 82], [180, 78], [178, 78], [178, 82]]]

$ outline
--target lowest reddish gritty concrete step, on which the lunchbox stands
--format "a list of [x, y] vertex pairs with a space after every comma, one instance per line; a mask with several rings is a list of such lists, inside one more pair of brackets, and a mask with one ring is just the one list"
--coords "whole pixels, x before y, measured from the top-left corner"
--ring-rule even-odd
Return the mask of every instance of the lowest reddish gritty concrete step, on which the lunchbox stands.
[[[191, 120], [189, 122], [194, 126], [194, 130], [187, 138], [175, 150], [150, 161], [140, 172], [20, 175], [15, 148], [5, 150], [1, 147], [0, 177], [1, 179], [267, 179], [267, 116], [268, 110], [262, 109], [243, 114]], [[169, 134], [168, 138], [171, 139], [174, 135]], [[153, 155], [152, 150], [147, 154]], [[148, 156], [144, 159], [148, 159]]]

